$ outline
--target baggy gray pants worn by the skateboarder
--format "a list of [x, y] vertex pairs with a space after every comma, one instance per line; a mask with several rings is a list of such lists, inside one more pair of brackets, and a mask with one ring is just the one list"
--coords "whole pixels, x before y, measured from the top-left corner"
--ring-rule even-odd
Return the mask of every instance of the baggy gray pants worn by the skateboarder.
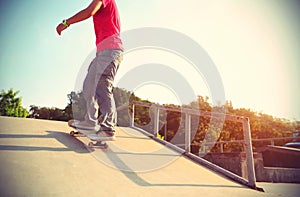
[[99, 121], [101, 130], [113, 131], [116, 124], [116, 107], [112, 90], [122, 59], [121, 50], [98, 52], [89, 66], [83, 83], [83, 96], [87, 104], [85, 121], [93, 126], [98, 125]]

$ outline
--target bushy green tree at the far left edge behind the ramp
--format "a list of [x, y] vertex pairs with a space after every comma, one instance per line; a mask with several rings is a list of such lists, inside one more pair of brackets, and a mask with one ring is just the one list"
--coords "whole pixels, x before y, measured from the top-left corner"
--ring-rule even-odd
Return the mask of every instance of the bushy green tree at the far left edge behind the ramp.
[[17, 97], [19, 91], [14, 92], [9, 89], [7, 92], [4, 90], [0, 94], [0, 115], [13, 116], [13, 117], [27, 117], [28, 111], [22, 107], [22, 98]]

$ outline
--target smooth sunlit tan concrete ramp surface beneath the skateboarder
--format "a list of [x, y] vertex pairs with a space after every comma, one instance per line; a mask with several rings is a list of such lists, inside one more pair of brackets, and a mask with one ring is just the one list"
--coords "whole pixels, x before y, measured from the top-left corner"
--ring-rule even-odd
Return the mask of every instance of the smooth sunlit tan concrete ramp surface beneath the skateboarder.
[[0, 196], [297, 196], [297, 184], [216, 174], [132, 128], [107, 149], [69, 135], [66, 122], [0, 117]]

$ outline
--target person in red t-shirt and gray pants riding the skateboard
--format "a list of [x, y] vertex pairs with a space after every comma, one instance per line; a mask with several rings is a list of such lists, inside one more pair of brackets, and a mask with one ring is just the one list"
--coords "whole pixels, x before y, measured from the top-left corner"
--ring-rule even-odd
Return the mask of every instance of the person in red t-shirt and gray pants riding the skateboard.
[[[92, 0], [88, 7], [56, 27], [62, 31], [92, 17], [96, 35], [97, 53], [90, 63], [83, 83], [86, 115], [83, 121], [70, 120], [69, 125], [83, 130], [94, 130], [101, 140], [114, 140], [116, 124], [113, 82], [123, 57], [120, 38], [120, 18], [115, 0]], [[101, 116], [98, 119], [98, 108]], [[76, 117], [75, 117], [76, 118]]]

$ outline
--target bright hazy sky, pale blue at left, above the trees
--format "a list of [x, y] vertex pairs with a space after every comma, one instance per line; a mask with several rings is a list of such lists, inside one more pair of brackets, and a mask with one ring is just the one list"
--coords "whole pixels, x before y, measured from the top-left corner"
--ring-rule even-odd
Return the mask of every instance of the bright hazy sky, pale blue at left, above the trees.
[[[213, 61], [225, 98], [235, 108], [300, 120], [299, 1], [116, 2], [122, 33], [159, 27], [197, 42]], [[91, 19], [72, 25], [62, 36], [55, 28], [88, 4], [83, 0], [1, 0], [0, 90], [20, 91], [25, 107], [64, 108], [67, 94], [76, 89], [93, 54], [95, 37]], [[191, 62], [157, 48], [125, 51], [115, 83], [120, 84], [122, 76], [138, 66], [154, 64], [167, 65], [192, 84], [196, 94], [211, 98], [205, 77], [194, 75]], [[136, 84], [135, 94], [159, 103], [179, 102], [179, 91], [156, 81], [155, 72], [148, 73], [151, 76], [153, 81]]]

